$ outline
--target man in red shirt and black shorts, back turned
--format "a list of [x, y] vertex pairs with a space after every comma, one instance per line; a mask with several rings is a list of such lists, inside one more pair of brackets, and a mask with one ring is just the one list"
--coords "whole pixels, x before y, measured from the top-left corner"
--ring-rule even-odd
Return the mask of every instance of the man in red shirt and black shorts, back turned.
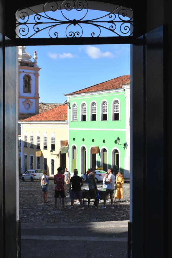
[[62, 198], [62, 207], [64, 208], [64, 198], [66, 197], [64, 192], [65, 175], [63, 175], [62, 172], [63, 168], [59, 167], [57, 169], [57, 174], [54, 175], [54, 184], [56, 184], [54, 193], [55, 208], [57, 208], [57, 198], [59, 198], [59, 196]]

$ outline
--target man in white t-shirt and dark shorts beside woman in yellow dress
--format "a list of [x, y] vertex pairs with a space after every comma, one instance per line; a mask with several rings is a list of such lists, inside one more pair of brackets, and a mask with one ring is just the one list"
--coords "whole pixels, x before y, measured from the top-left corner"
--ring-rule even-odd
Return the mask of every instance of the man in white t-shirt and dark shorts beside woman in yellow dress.
[[101, 209], [105, 209], [106, 208], [106, 199], [107, 199], [107, 195], [110, 195], [110, 199], [111, 199], [111, 209], [113, 209], [113, 192], [114, 192], [114, 186], [115, 186], [115, 176], [112, 173], [113, 169], [109, 168], [107, 173], [108, 173], [108, 178], [107, 181], [105, 181], [104, 183], [107, 184], [107, 188], [106, 188], [106, 192], [104, 195], [104, 203], [103, 206], [101, 207]]

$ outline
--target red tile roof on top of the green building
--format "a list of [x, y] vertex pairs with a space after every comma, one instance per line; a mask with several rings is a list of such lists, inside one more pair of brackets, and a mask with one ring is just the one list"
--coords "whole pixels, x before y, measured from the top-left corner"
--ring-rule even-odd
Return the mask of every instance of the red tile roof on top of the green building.
[[114, 90], [114, 89], [119, 89], [122, 88], [123, 84], [128, 84], [130, 83], [130, 75], [123, 75], [114, 79], [111, 79], [106, 82], [102, 82], [96, 85], [93, 85], [91, 87], [78, 90], [72, 93], [65, 94], [66, 95], [74, 95], [74, 94], [81, 94], [81, 93], [89, 93], [89, 92], [94, 92], [94, 91], [102, 91], [102, 90]]

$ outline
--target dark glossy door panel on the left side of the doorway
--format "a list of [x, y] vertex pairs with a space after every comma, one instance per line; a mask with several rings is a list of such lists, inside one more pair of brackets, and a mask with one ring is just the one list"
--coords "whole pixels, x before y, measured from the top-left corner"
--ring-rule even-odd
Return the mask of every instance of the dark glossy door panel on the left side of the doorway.
[[[9, 39], [5, 38], [5, 42], [6, 40]], [[16, 258], [16, 47], [5, 46], [4, 62], [5, 257]]]

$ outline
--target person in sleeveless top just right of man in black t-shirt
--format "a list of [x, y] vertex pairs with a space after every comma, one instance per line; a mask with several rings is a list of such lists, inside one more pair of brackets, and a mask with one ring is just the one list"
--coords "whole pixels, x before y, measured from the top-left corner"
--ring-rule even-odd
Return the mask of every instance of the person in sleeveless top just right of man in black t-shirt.
[[88, 175], [88, 188], [89, 188], [89, 193], [88, 193], [88, 208], [90, 206], [90, 199], [94, 199], [94, 206], [95, 208], [98, 208], [98, 200], [97, 200], [97, 184], [95, 181], [95, 173], [94, 169], [90, 168], [90, 173]]

